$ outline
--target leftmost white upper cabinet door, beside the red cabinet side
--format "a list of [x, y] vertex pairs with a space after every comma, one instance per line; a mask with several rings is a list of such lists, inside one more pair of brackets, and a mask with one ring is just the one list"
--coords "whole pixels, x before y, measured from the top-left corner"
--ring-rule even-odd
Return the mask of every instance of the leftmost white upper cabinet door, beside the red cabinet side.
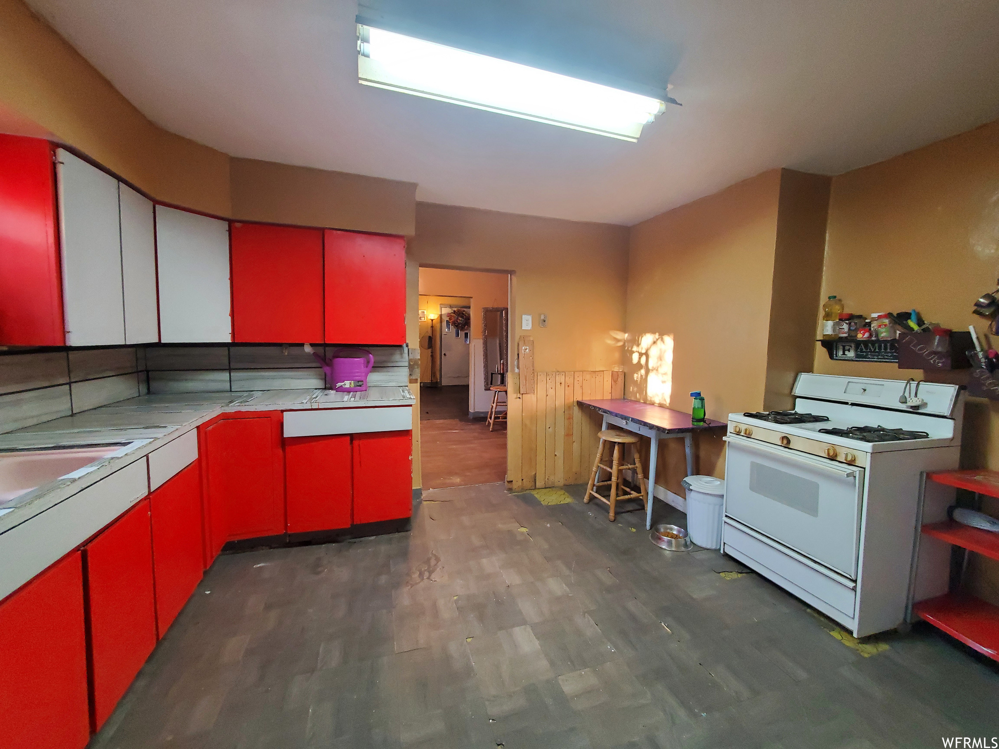
[[125, 343], [118, 180], [56, 151], [68, 346]]

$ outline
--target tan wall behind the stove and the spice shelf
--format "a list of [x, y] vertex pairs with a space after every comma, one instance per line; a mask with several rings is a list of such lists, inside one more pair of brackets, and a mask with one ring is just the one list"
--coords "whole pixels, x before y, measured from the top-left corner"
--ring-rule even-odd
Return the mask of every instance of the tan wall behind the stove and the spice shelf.
[[[955, 330], [976, 325], [981, 333], [971, 306], [995, 288], [997, 275], [999, 122], [833, 178], [822, 298], [835, 294], [847, 311], [868, 315], [915, 307], [926, 320]], [[893, 365], [831, 362], [819, 347], [814, 371], [923, 376]], [[996, 401], [969, 399], [961, 463], [999, 469]], [[984, 509], [999, 516], [997, 501], [986, 500]], [[999, 603], [999, 563], [972, 554], [969, 580]]]

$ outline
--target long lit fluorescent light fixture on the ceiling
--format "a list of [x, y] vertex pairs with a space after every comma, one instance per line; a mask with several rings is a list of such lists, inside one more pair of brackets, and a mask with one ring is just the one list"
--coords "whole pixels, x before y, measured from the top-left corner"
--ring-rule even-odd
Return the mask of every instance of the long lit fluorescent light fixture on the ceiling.
[[638, 140], [665, 104], [648, 96], [358, 25], [358, 79], [487, 112], [623, 141]]

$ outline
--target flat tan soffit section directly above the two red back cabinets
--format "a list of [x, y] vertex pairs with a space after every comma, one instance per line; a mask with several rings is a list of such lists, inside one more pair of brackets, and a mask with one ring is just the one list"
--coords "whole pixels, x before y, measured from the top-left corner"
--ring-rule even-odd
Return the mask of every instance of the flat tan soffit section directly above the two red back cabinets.
[[416, 234], [414, 182], [236, 158], [231, 174], [236, 219]]

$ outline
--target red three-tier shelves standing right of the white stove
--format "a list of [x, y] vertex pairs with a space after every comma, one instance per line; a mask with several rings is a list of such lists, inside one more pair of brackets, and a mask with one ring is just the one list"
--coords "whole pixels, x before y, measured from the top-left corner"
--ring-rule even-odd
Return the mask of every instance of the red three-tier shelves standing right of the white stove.
[[[947, 486], [999, 497], [999, 471], [943, 470], [927, 479]], [[999, 533], [972, 528], [953, 520], [923, 525], [925, 535], [955, 546], [999, 559]], [[935, 627], [957, 638], [983, 655], [999, 661], [999, 606], [973, 595], [951, 592], [919, 601], [912, 610]]]

